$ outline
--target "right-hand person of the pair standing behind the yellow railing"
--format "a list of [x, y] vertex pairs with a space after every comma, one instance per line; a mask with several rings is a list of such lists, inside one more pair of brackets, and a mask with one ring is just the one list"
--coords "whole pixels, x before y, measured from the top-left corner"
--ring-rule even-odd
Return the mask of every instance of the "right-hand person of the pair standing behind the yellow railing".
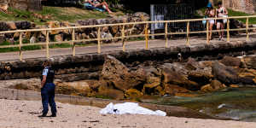
[[[222, 2], [218, 2], [218, 9], [216, 10], [217, 12], [217, 17], [222, 18], [226, 17], [228, 15], [227, 9], [225, 9], [222, 6]], [[226, 20], [217, 20], [217, 30], [222, 30], [224, 29], [224, 24], [226, 23]], [[218, 32], [218, 40], [222, 40], [224, 38], [224, 31], [223, 32]]]

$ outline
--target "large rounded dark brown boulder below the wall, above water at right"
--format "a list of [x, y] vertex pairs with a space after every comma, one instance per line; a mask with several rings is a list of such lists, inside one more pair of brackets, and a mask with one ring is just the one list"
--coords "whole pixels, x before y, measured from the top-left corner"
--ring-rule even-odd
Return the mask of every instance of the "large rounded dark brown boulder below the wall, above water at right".
[[224, 84], [237, 84], [241, 82], [235, 68], [226, 67], [218, 61], [212, 64], [212, 74]]

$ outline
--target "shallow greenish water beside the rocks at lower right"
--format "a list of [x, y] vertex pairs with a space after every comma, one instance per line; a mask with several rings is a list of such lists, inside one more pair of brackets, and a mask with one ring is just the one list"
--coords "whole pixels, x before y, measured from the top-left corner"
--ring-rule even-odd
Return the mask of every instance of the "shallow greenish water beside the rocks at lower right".
[[227, 88], [194, 97], [164, 96], [153, 103], [191, 108], [209, 115], [256, 122], [256, 88]]

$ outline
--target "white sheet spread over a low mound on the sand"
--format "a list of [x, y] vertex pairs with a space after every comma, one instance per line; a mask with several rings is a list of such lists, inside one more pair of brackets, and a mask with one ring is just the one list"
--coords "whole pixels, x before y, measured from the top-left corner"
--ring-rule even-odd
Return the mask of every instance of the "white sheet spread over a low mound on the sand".
[[140, 107], [137, 103], [134, 102], [125, 102], [118, 103], [113, 105], [109, 103], [106, 108], [103, 108], [100, 113], [102, 114], [150, 114], [150, 115], [159, 115], [166, 116], [166, 112], [156, 110], [152, 111], [148, 108]]

